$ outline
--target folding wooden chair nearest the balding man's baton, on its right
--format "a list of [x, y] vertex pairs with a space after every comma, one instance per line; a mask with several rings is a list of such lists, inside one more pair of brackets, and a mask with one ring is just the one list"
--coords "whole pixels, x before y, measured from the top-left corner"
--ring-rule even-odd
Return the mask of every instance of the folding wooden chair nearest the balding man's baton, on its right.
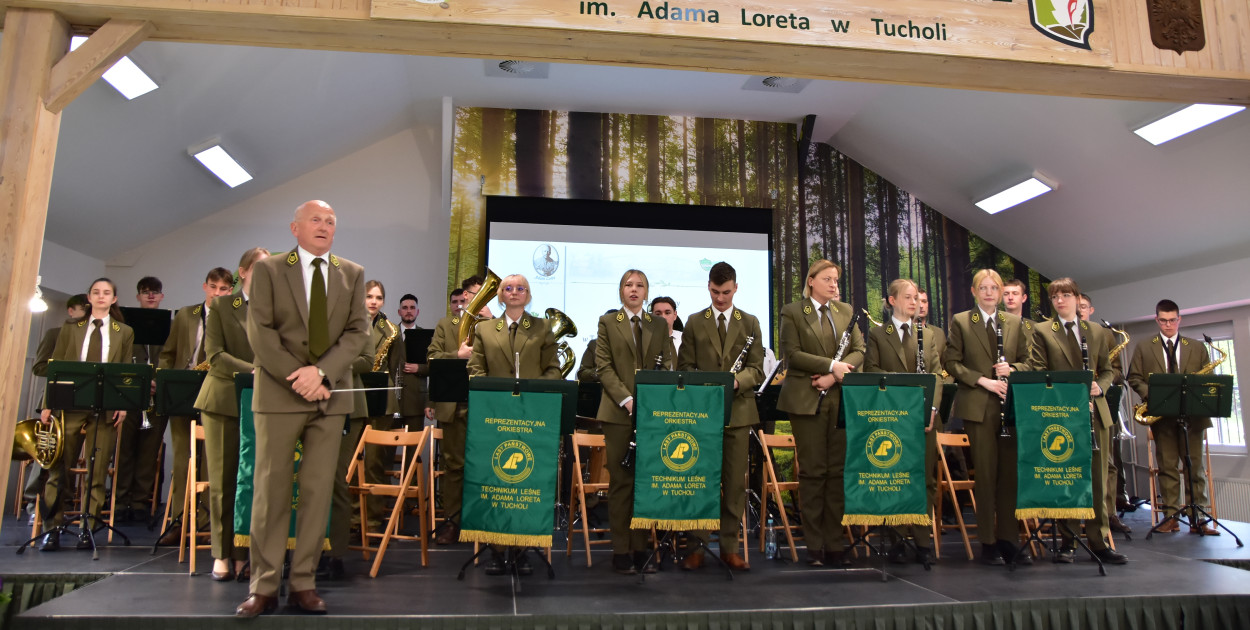
[[[386, 548], [390, 545], [391, 539], [420, 541], [421, 566], [429, 566], [430, 564], [430, 519], [425, 502], [429, 499], [429, 480], [420, 458], [415, 455], [425, 449], [429, 439], [429, 428], [420, 431], [379, 431], [365, 426], [365, 432], [360, 436], [360, 442], [356, 445], [356, 452], [351, 456], [351, 465], [348, 468], [348, 482], [352, 484], [351, 476], [355, 475], [355, 484], [350, 485], [349, 489], [360, 496], [360, 522], [368, 522], [369, 498], [391, 498], [395, 500], [395, 505], [391, 508], [390, 516], [386, 518], [386, 526], [381, 534], [372, 534], [368, 528], [360, 529], [359, 549], [364, 552], [366, 560], [370, 555], [375, 555], [372, 568], [369, 570], [370, 578], [378, 576], [378, 569], [382, 564], [382, 556], [386, 555]], [[414, 455], [408, 458], [398, 485], [389, 482], [370, 484], [365, 479], [365, 446], [368, 445], [411, 449]], [[398, 534], [404, 512], [404, 502], [408, 499], [416, 500], [416, 536]], [[369, 546], [369, 539], [371, 538], [380, 539], [376, 548]]]

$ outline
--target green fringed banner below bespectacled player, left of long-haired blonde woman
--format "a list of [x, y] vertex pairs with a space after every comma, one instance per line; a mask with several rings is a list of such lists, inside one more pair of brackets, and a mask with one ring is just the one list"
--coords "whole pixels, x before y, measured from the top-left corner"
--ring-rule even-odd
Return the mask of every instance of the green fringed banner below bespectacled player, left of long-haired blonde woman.
[[560, 394], [469, 391], [460, 540], [551, 546]]

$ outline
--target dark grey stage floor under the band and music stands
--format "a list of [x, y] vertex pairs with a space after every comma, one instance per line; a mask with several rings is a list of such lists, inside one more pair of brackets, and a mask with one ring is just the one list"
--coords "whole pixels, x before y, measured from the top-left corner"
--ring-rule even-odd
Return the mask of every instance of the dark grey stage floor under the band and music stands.
[[[1138, 599], [1190, 595], [1250, 594], [1250, 572], [1212, 562], [1241, 562], [1250, 566], [1250, 548], [1238, 548], [1228, 534], [1196, 536], [1188, 532], [1155, 535], [1144, 540], [1149, 512], [1139, 510], [1125, 519], [1134, 529], [1131, 541], [1118, 536], [1116, 545], [1130, 558], [1124, 566], [1108, 566], [1100, 576], [1088, 556], [1075, 564], [1048, 560], [1015, 571], [982, 566], [968, 560], [958, 534], [944, 536], [942, 558], [926, 571], [918, 564], [886, 565], [882, 582], [879, 566], [865, 561], [851, 570], [811, 569], [788, 561], [766, 561], [752, 548], [751, 571], [729, 581], [722, 570], [705, 565], [699, 571], [665, 570], [648, 576], [621, 576], [611, 571], [610, 551], [594, 552], [586, 568], [585, 555], [566, 559], [562, 546], [554, 552], [555, 579], [536, 566], [520, 580], [491, 578], [470, 569], [464, 581], [456, 572], [471, 545], [431, 548], [430, 565], [421, 568], [420, 552], [411, 542], [394, 544], [379, 578], [368, 576], [369, 564], [359, 552], [346, 558], [349, 579], [319, 584], [331, 616], [426, 619], [474, 616], [559, 616], [570, 614], [664, 614], [698, 611], [795, 611], [841, 608], [898, 608], [901, 605], [959, 605], [1019, 600], [1078, 600], [1089, 598]], [[1242, 541], [1250, 542], [1250, 525], [1225, 522]], [[75, 619], [160, 618], [176, 622], [204, 616], [231, 615], [248, 595], [246, 584], [215, 582], [208, 552], [200, 555], [205, 574], [189, 576], [188, 565], [178, 562], [178, 551], [161, 548], [150, 555], [155, 534], [128, 528], [134, 546], [108, 546], [100, 560], [88, 551], [58, 552], [28, 550], [16, 555], [26, 528], [5, 519], [0, 546], [0, 575], [101, 574], [102, 579], [46, 601], [16, 618], [16, 628], [42, 628], [55, 620], [64, 626]], [[578, 539], [580, 542], [580, 539]], [[144, 546], [144, 544], [149, 546]], [[974, 551], [979, 548], [974, 542]], [[800, 559], [804, 550], [799, 550]], [[280, 612], [281, 614], [281, 612]], [[155, 620], [155, 619], [150, 619]], [[310, 619], [311, 621], [311, 619]], [[92, 624], [94, 625], [94, 624]], [[146, 624], [140, 624], [146, 625]], [[196, 626], [190, 624], [188, 628]], [[444, 625], [444, 624], [439, 624]]]

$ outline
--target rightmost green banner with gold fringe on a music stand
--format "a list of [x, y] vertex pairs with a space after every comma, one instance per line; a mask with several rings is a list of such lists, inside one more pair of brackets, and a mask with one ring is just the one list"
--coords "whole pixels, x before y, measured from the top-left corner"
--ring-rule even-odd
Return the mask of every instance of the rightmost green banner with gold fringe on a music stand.
[[1016, 384], [1016, 519], [1092, 519], [1090, 389], [1081, 382]]

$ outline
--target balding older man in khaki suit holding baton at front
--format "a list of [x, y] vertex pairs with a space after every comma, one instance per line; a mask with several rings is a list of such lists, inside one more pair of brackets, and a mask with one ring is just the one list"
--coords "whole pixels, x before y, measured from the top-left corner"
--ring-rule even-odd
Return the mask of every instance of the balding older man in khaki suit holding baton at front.
[[330, 254], [335, 214], [325, 201], [295, 210], [298, 248], [252, 268], [248, 340], [255, 354], [255, 494], [251, 594], [235, 610], [251, 618], [278, 608], [291, 514], [295, 442], [302, 439], [300, 510], [288, 605], [325, 614], [314, 571], [330, 515], [334, 464], [352, 399], [351, 361], [369, 340], [364, 269]]

